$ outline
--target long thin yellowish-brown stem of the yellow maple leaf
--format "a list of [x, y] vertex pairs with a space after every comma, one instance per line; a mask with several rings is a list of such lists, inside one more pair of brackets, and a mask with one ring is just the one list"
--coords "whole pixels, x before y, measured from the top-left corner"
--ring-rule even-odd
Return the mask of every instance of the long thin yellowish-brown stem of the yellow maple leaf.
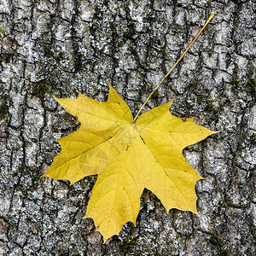
[[160, 80], [160, 83], [157, 84], [154, 88], [154, 90], [149, 94], [146, 102], [143, 103], [142, 108], [140, 108], [140, 110], [138, 111], [136, 117], [134, 118], [134, 122], [136, 122], [137, 117], [139, 115], [139, 113], [141, 113], [141, 111], [143, 110], [143, 108], [145, 107], [145, 105], [147, 104], [148, 100], [151, 98], [151, 96], [153, 96], [154, 91], [157, 90], [160, 86], [160, 84], [162, 84], [162, 82], [168, 77], [168, 75], [172, 72], [172, 70], [177, 66], [178, 62], [181, 61], [183, 59], [183, 56], [188, 52], [188, 50], [190, 49], [190, 47], [195, 43], [195, 40], [201, 35], [201, 32], [203, 32], [203, 30], [206, 28], [206, 26], [208, 25], [208, 23], [212, 20], [213, 16], [215, 15], [214, 12], [211, 13], [210, 17], [208, 18], [206, 24], [201, 28], [201, 31], [198, 32], [198, 34], [196, 35], [196, 37], [194, 38], [194, 40], [191, 42], [191, 44], [189, 44], [189, 47], [183, 52], [183, 55], [180, 56], [180, 58], [177, 60], [177, 62], [173, 65], [173, 67], [170, 69], [170, 71], [168, 73], [166, 73], [166, 76]]

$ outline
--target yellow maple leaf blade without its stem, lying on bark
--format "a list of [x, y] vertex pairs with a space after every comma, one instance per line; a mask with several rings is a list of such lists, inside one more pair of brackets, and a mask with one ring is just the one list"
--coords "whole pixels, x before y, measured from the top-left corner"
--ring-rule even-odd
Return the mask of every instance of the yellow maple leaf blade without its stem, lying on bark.
[[172, 116], [171, 102], [134, 121], [125, 101], [109, 87], [107, 102], [81, 94], [78, 99], [55, 98], [81, 126], [58, 140], [61, 153], [43, 176], [75, 183], [98, 175], [85, 217], [94, 219], [105, 240], [119, 234], [126, 222], [136, 223], [144, 188], [167, 211], [197, 213], [195, 183], [201, 176], [182, 152], [216, 131]]

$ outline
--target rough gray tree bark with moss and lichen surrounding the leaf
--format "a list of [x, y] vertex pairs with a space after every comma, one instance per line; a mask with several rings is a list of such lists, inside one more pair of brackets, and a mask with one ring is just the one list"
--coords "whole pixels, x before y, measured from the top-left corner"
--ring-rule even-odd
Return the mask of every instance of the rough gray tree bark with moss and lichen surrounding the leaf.
[[[254, 1], [1, 0], [0, 255], [255, 255]], [[79, 121], [55, 102], [105, 101], [108, 82], [133, 114], [216, 15], [145, 110], [218, 134], [184, 149], [205, 179], [200, 216], [166, 212], [144, 190], [137, 226], [103, 244], [83, 218], [96, 177], [69, 186], [40, 176]]]

